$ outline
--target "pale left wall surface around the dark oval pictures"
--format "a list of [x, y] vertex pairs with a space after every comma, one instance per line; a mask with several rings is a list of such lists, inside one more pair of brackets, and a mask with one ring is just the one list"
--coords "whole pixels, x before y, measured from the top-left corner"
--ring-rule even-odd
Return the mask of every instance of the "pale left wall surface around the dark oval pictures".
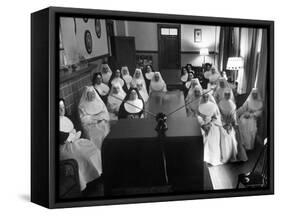
[[[86, 59], [98, 57], [108, 54], [107, 34], [105, 20], [101, 21], [101, 37], [98, 38], [95, 31], [95, 19], [88, 19], [84, 22], [82, 18], [63, 17], [60, 19], [62, 44], [66, 54], [67, 64], [75, 64], [79, 62], [79, 55]], [[88, 54], [85, 48], [84, 34], [85, 30], [91, 32], [93, 41], [93, 50]]]

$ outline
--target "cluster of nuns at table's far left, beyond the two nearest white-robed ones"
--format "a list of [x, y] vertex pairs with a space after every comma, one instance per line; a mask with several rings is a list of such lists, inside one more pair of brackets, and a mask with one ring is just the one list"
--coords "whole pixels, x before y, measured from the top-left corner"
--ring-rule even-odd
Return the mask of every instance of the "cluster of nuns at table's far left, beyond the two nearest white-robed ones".
[[112, 72], [103, 64], [101, 72], [93, 74], [92, 89], [101, 98], [110, 120], [143, 118], [145, 103], [152, 92], [166, 92], [166, 83], [160, 72], [147, 65], [130, 75], [127, 66]]

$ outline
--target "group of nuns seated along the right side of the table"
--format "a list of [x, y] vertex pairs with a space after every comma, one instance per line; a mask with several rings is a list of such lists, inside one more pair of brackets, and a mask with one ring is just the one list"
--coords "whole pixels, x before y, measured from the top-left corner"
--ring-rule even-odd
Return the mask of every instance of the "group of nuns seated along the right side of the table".
[[225, 73], [220, 74], [215, 67], [205, 71], [208, 83], [203, 88], [191, 69], [186, 72], [182, 81], [186, 80], [187, 116], [197, 118], [201, 125], [204, 161], [213, 166], [247, 161], [246, 150], [254, 148], [257, 118], [263, 109], [258, 89], [253, 88], [244, 104], [236, 109]]

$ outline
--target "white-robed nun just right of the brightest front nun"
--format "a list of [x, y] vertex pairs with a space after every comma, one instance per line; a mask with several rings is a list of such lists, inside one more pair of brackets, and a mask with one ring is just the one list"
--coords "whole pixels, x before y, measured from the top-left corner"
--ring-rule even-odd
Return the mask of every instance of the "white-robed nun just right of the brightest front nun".
[[235, 162], [238, 159], [238, 143], [234, 127], [236, 121], [236, 105], [231, 100], [231, 90], [224, 91], [224, 97], [220, 100], [219, 109], [221, 111], [221, 120], [223, 127], [221, 128], [221, 151], [222, 162]]

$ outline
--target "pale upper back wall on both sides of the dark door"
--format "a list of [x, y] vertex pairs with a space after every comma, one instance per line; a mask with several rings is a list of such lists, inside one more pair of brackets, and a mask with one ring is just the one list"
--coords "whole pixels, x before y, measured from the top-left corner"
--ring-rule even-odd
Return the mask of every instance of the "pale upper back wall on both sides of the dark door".
[[[158, 68], [158, 38], [157, 23], [152, 22], [134, 22], [128, 21], [128, 36], [135, 37], [136, 50], [138, 54], [152, 55], [153, 66]], [[194, 29], [202, 29], [202, 42], [194, 42]], [[181, 64], [191, 63], [194, 66], [201, 66], [203, 56], [199, 55], [200, 48], [208, 48], [209, 56], [206, 56], [205, 62], [217, 64], [217, 52], [219, 46], [220, 27], [204, 25], [181, 25]], [[125, 30], [124, 30], [125, 32]]]

